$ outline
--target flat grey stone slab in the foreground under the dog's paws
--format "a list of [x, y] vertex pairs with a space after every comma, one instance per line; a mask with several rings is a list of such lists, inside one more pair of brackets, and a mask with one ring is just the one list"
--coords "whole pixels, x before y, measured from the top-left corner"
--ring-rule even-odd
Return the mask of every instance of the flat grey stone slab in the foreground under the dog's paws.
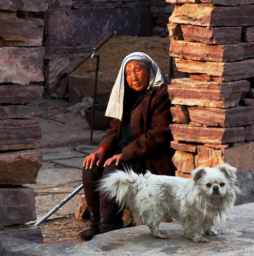
[[34, 244], [0, 235], [1, 256], [251, 256], [254, 255], [254, 203], [235, 206], [218, 236], [205, 236], [206, 243], [194, 243], [184, 236], [179, 223], [161, 223], [169, 239], [155, 239], [147, 226], [136, 226], [95, 236], [85, 243]]

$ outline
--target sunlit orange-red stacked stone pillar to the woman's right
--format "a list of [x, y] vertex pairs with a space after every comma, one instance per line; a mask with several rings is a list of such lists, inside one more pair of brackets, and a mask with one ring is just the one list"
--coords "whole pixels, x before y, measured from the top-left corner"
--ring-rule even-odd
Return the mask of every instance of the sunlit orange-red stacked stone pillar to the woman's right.
[[176, 176], [200, 165], [254, 167], [254, 0], [166, 0], [170, 56], [190, 78], [168, 87]]

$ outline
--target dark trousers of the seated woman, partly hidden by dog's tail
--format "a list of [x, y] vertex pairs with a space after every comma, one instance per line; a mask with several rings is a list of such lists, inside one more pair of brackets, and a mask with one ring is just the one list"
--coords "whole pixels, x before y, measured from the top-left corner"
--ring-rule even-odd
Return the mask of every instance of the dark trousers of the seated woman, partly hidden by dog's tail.
[[82, 172], [82, 181], [90, 214], [91, 226], [99, 226], [101, 233], [123, 228], [123, 212], [119, 212], [119, 208], [114, 203], [114, 200], [108, 200], [102, 192], [95, 191], [98, 181], [101, 178], [116, 169], [124, 170], [124, 166], [126, 166], [126, 163], [121, 161], [117, 166], [114, 162], [104, 168], [103, 165], [107, 159], [108, 158], [106, 157], [100, 166], [97, 166], [95, 163], [93, 169], [86, 170], [83, 168]]

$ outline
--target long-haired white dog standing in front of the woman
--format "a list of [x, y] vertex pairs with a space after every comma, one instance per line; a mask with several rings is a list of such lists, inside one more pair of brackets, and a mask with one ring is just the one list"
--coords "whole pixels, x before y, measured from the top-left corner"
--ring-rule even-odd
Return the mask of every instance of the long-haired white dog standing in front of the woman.
[[184, 179], [117, 170], [101, 180], [99, 189], [115, 198], [121, 209], [126, 205], [133, 210], [156, 238], [168, 238], [159, 228], [167, 216], [182, 222], [190, 239], [203, 243], [207, 239], [200, 234], [202, 228], [206, 235], [217, 235], [212, 226], [226, 219], [236, 193], [241, 193], [236, 171], [229, 164], [200, 166], [192, 171], [191, 179]]

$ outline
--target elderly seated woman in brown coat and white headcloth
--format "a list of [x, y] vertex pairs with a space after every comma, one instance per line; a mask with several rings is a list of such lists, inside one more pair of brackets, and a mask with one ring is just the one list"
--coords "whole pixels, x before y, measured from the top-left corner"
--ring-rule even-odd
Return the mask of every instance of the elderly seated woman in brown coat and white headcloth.
[[137, 173], [149, 170], [174, 175], [171, 103], [167, 93], [170, 82], [148, 55], [136, 52], [124, 58], [106, 110], [106, 116], [114, 118], [111, 128], [106, 130], [99, 149], [88, 155], [83, 164], [91, 227], [81, 232], [80, 238], [88, 241], [96, 234], [123, 227], [123, 213], [96, 191], [103, 176], [116, 169], [124, 170], [126, 165]]

